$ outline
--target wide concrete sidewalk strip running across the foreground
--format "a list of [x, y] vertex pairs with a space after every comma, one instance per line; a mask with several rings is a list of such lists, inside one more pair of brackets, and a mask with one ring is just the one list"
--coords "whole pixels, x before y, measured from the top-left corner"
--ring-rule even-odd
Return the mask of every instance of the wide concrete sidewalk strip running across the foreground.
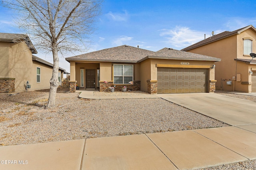
[[256, 133], [233, 126], [0, 147], [4, 170], [185, 170], [253, 159]]

